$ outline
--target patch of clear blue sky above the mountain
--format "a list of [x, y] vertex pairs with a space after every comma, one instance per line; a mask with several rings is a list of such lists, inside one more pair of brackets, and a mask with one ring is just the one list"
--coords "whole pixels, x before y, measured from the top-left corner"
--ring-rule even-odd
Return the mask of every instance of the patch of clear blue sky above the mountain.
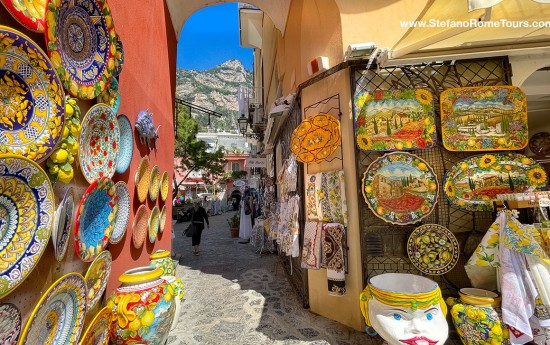
[[189, 17], [178, 42], [177, 67], [202, 71], [231, 59], [252, 70], [252, 48], [239, 45], [237, 3], [207, 7]]

